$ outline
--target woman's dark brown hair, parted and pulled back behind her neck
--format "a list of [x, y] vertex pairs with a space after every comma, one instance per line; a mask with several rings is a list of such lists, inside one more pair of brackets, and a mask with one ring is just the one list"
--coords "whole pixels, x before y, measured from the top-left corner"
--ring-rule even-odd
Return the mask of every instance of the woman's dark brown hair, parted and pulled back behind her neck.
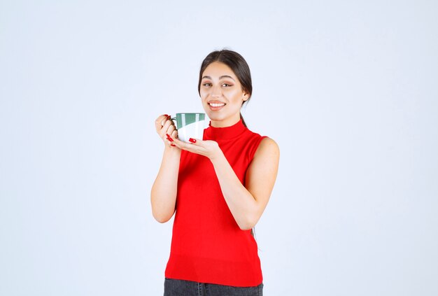
[[[253, 83], [251, 81], [251, 73], [249, 70], [249, 66], [246, 63], [246, 60], [243, 59], [239, 53], [232, 50], [216, 50], [210, 52], [209, 55], [206, 56], [204, 61], [202, 61], [201, 69], [199, 70], [199, 83], [198, 83], [198, 92], [201, 90], [201, 80], [202, 73], [204, 73], [205, 69], [209, 64], [213, 62], [221, 62], [229, 66], [232, 69], [234, 74], [236, 74], [237, 79], [239, 79], [240, 84], [242, 85], [242, 90], [247, 92], [249, 97], [246, 102], [249, 101], [251, 94], [253, 94]], [[243, 104], [245, 101], [243, 101]], [[243, 120], [242, 114], [240, 114], [240, 118], [243, 122], [243, 125], [246, 126], [245, 120]]]

